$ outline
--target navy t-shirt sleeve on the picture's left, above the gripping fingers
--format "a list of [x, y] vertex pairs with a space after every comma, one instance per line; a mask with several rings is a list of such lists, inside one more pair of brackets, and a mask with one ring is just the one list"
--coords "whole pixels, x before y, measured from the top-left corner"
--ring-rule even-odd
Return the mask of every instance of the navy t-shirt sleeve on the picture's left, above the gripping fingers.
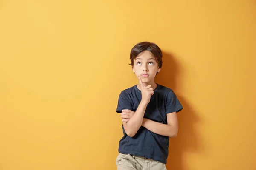
[[128, 97], [128, 94], [125, 91], [122, 91], [119, 95], [116, 112], [122, 113], [123, 109], [129, 109], [133, 111], [132, 103]]

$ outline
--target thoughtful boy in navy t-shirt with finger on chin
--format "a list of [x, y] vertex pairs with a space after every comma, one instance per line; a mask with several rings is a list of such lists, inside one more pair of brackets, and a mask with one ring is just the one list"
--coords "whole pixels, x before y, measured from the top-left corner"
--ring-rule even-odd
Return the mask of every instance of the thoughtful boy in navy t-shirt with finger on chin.
[[171, 89], [154, 82], [162, 67], [156, 44], [136, 44], [130, 59], [139, 83], [119, 95], [116, 112], [121, 113], [124, 136], [117, 170], [166, 170], [169, 137], [177, 136], [177, 112], [183, 107]]

